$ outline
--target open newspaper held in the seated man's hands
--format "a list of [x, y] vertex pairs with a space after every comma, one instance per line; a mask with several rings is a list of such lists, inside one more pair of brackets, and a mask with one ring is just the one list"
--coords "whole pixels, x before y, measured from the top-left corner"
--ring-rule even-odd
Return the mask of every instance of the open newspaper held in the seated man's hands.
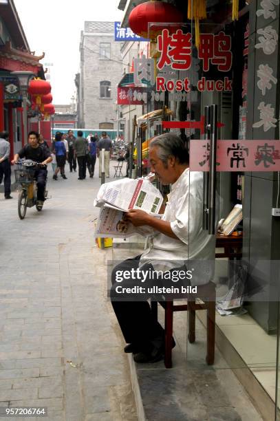
[[[122, 178], [102, 184], [94, 206], [100, 208], [96, 220], [96, 237], [130, 237], [139, 230], [123, 217], [129, 209], [142, 209], [159, 217], [162, 194], [149, 180]], [[148, 233], [149, 230], [147, 230]], [[145, 235], [145, 230], [142, 230]]]

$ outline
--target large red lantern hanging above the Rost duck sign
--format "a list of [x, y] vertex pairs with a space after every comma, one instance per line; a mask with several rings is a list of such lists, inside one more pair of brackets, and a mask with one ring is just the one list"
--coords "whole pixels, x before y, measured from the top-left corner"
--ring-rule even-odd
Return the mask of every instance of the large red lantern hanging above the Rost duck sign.
[[[144, 38], [155, 38], [166, 26], [156, 25], [151, 30], [149, 22], [156, 23], [182, 23], [182, 13], [174, 6], [163, 1], [151, 0], [141, 3], [129, 15], [129, 26], [133, 32]], [[176, 30], [178, 27], [176, 28]]]

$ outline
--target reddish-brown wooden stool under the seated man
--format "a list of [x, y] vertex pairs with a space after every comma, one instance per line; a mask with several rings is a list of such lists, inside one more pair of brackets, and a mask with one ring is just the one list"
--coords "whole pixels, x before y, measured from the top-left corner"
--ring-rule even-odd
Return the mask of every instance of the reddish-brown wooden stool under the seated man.
[[[173, 336], [173, 312], [188, 311], [190, 343], [195, 342], [195, 311], [207, 310], [207, 353], [206, 363], [212, 365], [215, 359], [215, 307], [216, 307], [216, 285], [209, 282], [206, 285], [197, 286], [197, 294], [191, 294], [187, 304], [174, 305], [173, 301], [159, 301], [164, 307], [164, 330], [165, 330], [165, 351], [164, 365], [172, 367], [172, 336]], [[203, 303], [195, 303], [195, 298], [200, 298]], [[151, 301], [151, 310], [155, 319], [158, 319], [158, 301]]]

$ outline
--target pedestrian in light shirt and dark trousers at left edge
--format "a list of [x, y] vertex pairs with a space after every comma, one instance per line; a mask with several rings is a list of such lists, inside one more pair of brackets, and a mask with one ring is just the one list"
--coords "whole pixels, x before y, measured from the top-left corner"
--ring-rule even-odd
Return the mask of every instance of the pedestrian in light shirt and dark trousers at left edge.
[[5, 199], [12, 199], [11, 193], [11, 164], [10, 164], [10, 142], [9, 133], [0, 133], [0, 184], [4, 177]]

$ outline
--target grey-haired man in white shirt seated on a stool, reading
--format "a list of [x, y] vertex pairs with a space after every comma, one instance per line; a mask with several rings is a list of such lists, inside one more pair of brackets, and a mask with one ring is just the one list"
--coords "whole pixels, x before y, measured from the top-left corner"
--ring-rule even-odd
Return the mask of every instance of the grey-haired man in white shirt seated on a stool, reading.
[[[171, 193], [160, 219], [142, 209], [133, 208], [126, 213], [125, 219], [133, 226], [149, 227], [149, 246], [142, 255], [114, 268], [110, 291], [128, 344], [125, 352], [132, 352], [137, 363], [153, 363], [164, 355], [164, 329], [153, 318], [147, 302], [153, 295], [147, 288], [153, 285], [153, 270], [160, 270], [165, 277], [174, 274], [175, 268], [185, 268], [184, 261], [189, 257], [215, 256], [215, 237], [202, 230], [202, 173], [189, 171], [184, 142], [172, 133], [158, 136], [150, 143], [149, 160], [158, 180], [171, 184]], [[137, 274], [142, 279], [137, 279]], [[209, 279], [199, 281], [208, 283]]]

